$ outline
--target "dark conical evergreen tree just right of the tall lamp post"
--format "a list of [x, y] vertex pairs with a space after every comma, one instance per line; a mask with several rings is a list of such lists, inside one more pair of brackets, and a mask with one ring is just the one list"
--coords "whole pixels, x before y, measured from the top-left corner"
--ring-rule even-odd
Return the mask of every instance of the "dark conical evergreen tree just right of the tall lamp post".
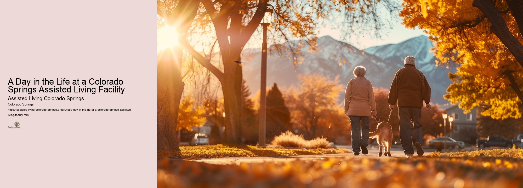
[[243, 80], [241, 142], [243, 144], [256, 144], [258, 142], [258, 119], [254, 110], [254, 101], [249, 96], [251, 96], [251, 91]]

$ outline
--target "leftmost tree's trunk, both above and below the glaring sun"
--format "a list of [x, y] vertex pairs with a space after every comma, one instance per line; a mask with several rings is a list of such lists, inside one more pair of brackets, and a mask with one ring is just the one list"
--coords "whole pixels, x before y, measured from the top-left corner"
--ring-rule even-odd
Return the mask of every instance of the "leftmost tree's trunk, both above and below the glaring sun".
[[[179, 2], [174, 11], [156, 8], [156, 13], [177, 27], [178, 33], [186, 33], [194, 20], [200, 2]], [[175, 33], [173, 33], [175, 34]], [[156, 63], [156, 149], [179, 151], [176, 121], [184, 82], [181, 81], [181, 63], [184, 50], [174, 47], [162, 52]]]

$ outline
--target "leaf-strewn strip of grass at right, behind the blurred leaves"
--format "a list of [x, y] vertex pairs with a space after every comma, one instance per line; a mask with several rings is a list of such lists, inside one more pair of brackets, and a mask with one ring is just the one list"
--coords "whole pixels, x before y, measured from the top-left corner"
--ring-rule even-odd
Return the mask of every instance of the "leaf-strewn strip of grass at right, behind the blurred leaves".
[[523, 149], [488, 149], [477, 151], [434, 152], [431, 157], [511, 157], [523, 159]]

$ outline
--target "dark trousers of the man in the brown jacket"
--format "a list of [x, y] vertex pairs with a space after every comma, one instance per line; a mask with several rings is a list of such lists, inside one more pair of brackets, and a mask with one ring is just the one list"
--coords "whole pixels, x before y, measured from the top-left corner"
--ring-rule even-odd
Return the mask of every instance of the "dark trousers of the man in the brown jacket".
[[413, 143], [423, 144], [422, 124], [419, 123], [422, 109], [400, 108], [400, 139], [405, 155], [414, 154]]

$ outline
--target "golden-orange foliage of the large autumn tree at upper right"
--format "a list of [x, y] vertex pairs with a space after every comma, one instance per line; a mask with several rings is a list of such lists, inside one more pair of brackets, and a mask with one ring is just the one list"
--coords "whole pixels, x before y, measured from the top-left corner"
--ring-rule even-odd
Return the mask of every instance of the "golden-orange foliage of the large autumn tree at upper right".
[[[418, 27], [430, 34], [429, 39], [435, 43], [433, 50], [440, 60], [436, 62], [437, 66], [460, 64], [458, 72], [449, 73], [453, 84], [447, 89], [446, 99], [451, 103], [459, 102], [465, 113], [485, 103], [491, 108], [482, 111], [483, 116], [519, 118], [523, 104], [523, 69], [520, 65], [523, 62], [518, 62], [505, 42], [496, 36], [492, 20], [473, 7], [473, 2], [406, 0], [400, 16], [406, 27]], [[523, 23], [518, 25], [517, 21], [521, 19], [516, 16], [521, 13], [509, 6], [515, 2], [494, 1], [493, 5], [506, 23], [509, 35], [521, 45]]]

